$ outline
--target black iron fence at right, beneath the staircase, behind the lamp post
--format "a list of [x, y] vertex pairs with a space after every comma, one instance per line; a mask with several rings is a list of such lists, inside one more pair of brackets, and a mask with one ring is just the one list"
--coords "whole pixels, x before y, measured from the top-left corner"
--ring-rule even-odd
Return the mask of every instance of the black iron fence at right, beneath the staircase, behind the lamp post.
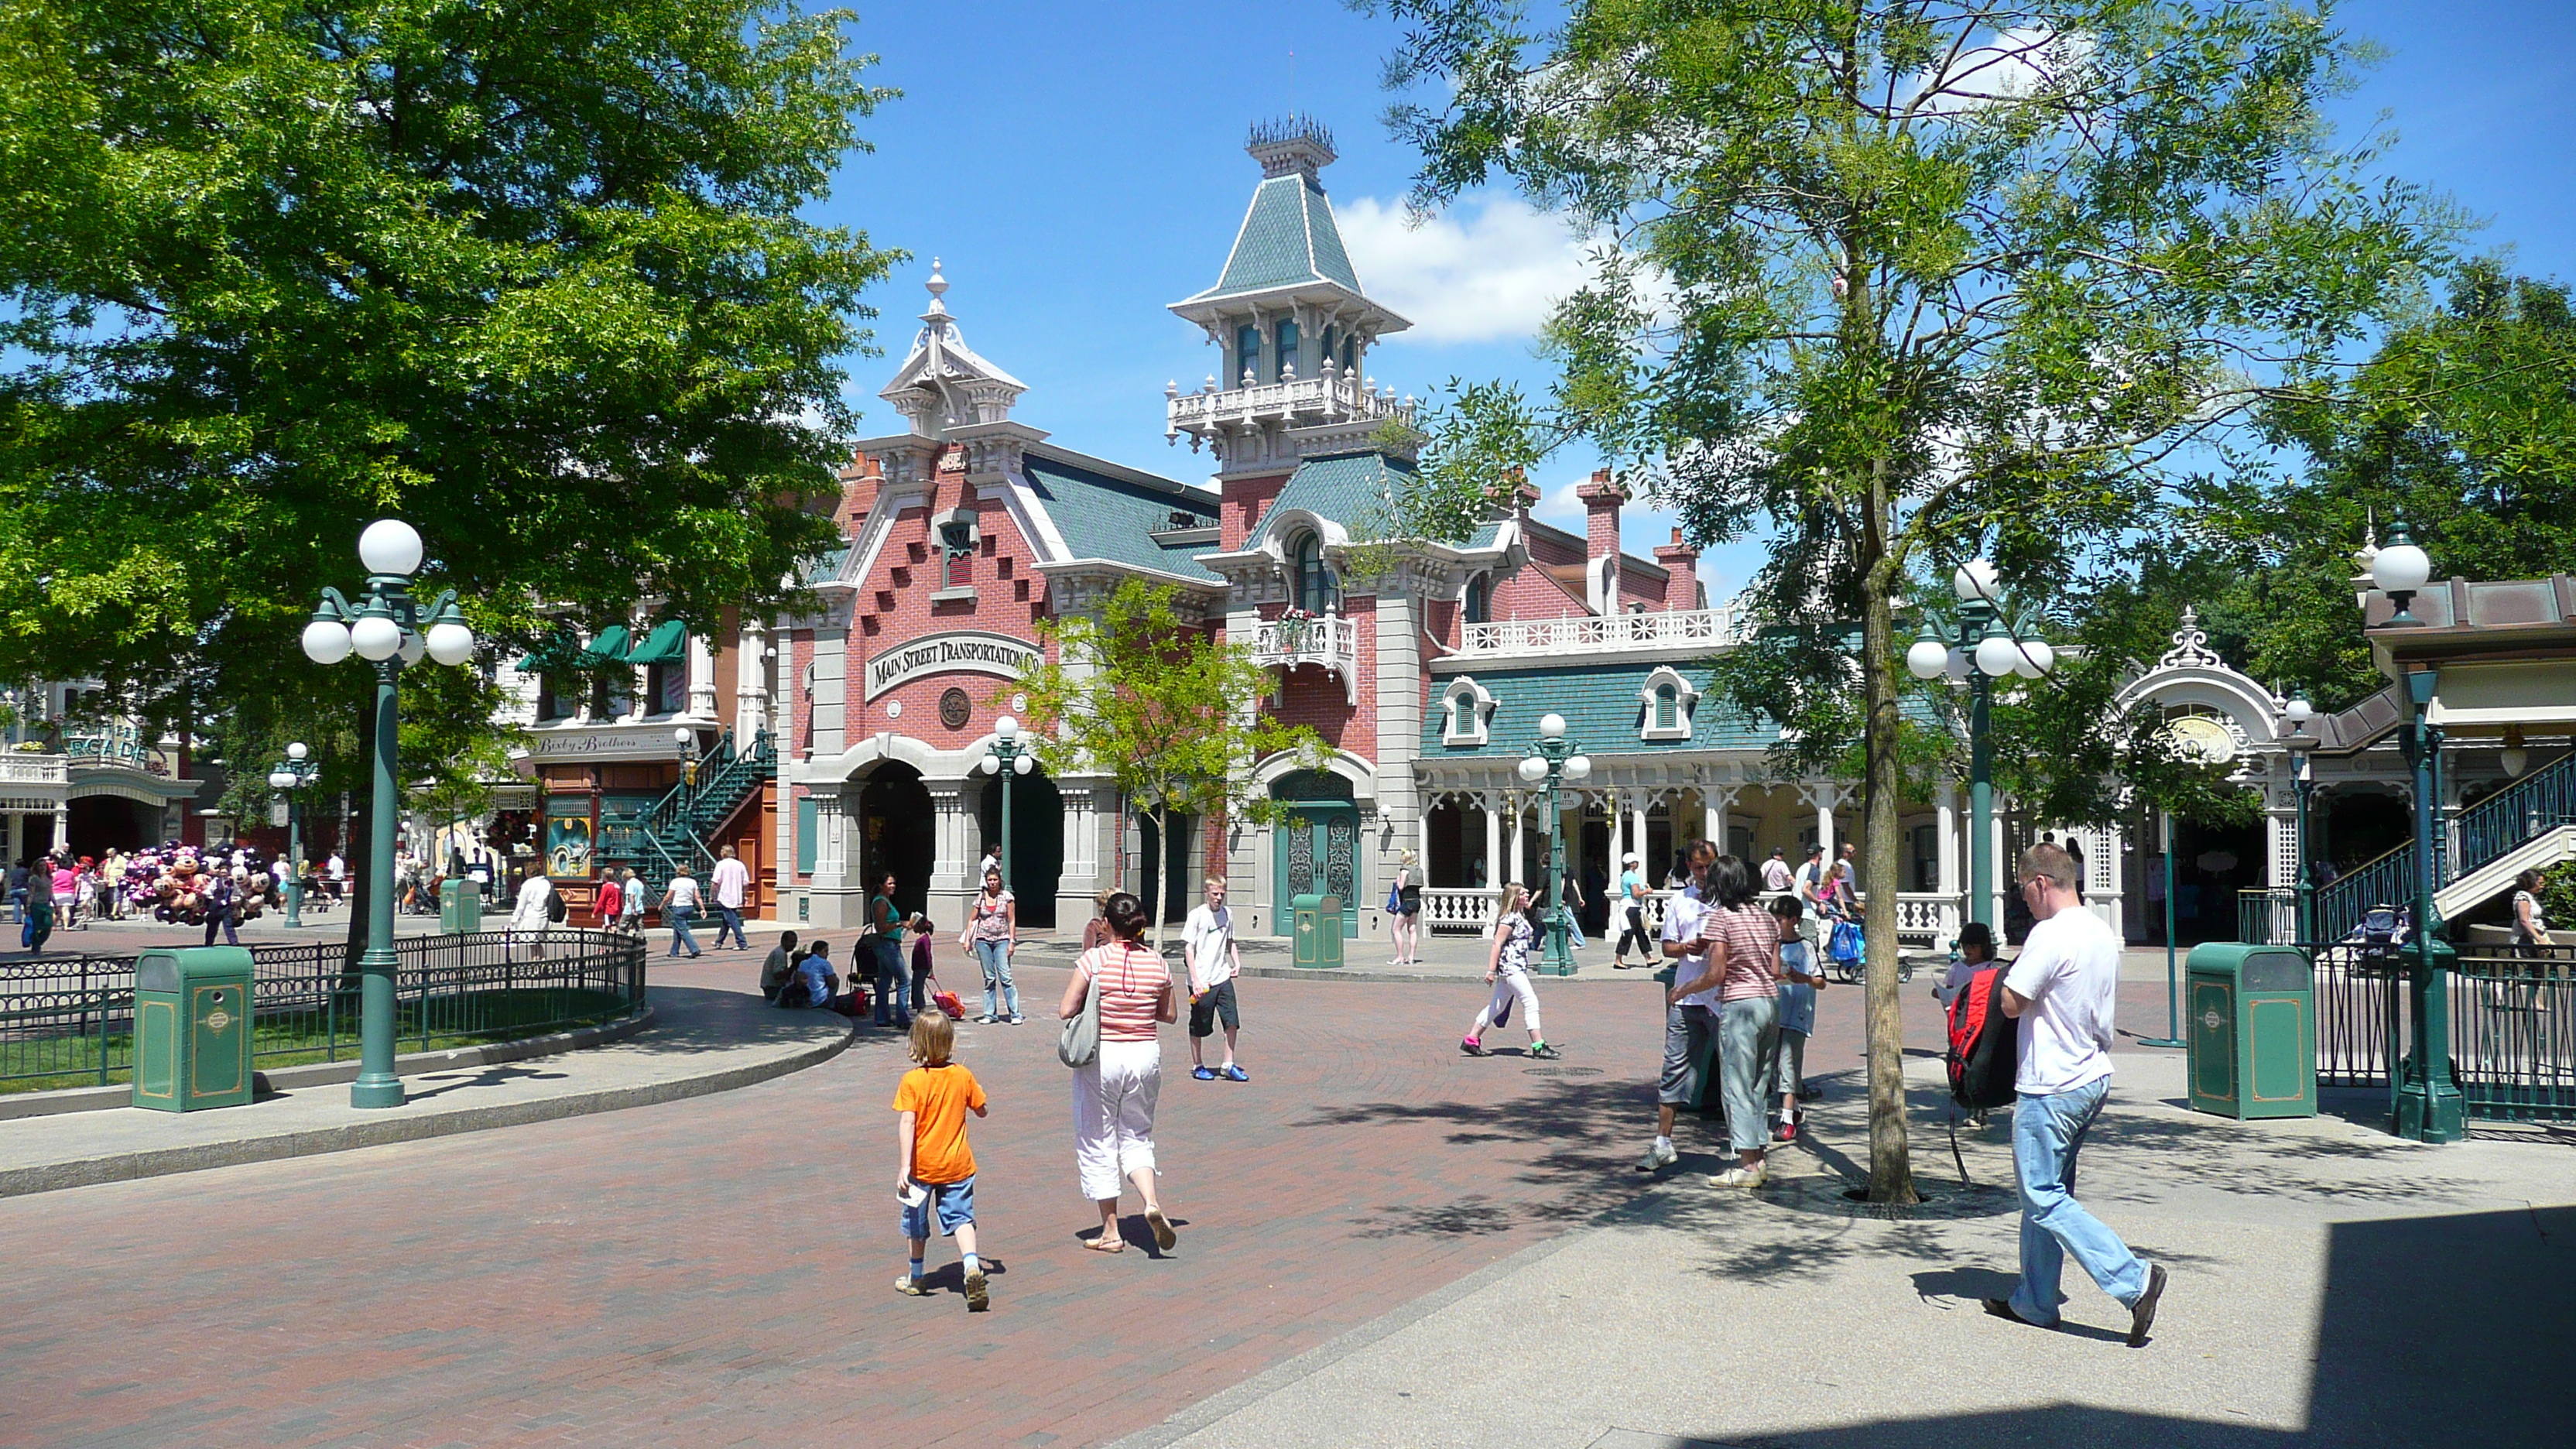
[[[2576, 1119], [2576, 946], [2460, 957], [2450, 977], [2450, 1075], [2481, 1122]], [[2406, 959], [2393, 949], [2316, 951], [2316, 1083], [2396, 1088], [2411, 1044]]]

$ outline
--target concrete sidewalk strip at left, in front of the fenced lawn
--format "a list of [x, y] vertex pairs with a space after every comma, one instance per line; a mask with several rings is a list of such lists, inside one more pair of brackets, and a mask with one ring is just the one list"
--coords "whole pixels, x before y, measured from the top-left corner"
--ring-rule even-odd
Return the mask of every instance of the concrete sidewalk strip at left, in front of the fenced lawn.
[[397, 1109], [358, 1111], [348, 1085], [314, 1083], [250, 1106], [188, 1114], [129, 1106], [0, 1122], [0, 1196], [703, 1096], [824, 1062], [858, 1031], [827, 1011], [775, 1011], [714, 972], [657, 969], [647, 998], [654, 1018], [634, 1036], [549, 1057], [404, 1073], [412, 1101]]

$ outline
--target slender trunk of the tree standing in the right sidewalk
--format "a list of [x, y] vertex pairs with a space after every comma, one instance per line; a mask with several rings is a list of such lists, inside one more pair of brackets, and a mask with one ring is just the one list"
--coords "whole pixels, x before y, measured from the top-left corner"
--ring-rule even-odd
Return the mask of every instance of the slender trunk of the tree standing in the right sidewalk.
[[1870, 462], [1870, 516], [1862, 529], [1860, 676], [1868, 724], [1862, 727], [1862, 869], [1870, 882], [1868, 913], [1868, 1034], [1870, 1034], [1870, 1201], [1909, 1204], [1914, 1165], [1906, 1152], [1906, 1031], [1896, 993], [1896, 567], [1888, 559], [1886, 459]]

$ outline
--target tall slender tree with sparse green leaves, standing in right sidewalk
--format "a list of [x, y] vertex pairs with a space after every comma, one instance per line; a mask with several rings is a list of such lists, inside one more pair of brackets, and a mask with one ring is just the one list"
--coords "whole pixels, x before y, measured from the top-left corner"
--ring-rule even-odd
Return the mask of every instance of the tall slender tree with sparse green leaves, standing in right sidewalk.
[[[1873, 882], [1899, 874], [1922, 580], [1984, 544], [2071, 588], [2156, 526], [2177, 456], [2339, 356], [2442, 242], [2331, 144], [2357, 54], [2326, 5], [1386, 8], [1391, 85], [1437, 95], [1391, 113], [1414, 204], [1502, 178], [1597, 237], [1546, 333], [1546, 436], [1620, 459], [1700, 544], [1770, 536], [1749, 596], [1806, 645], [1762, 706], [1857, 696]], [[1893, 964], [1873, 931], [1870, 1196], [1911, 1201]]]

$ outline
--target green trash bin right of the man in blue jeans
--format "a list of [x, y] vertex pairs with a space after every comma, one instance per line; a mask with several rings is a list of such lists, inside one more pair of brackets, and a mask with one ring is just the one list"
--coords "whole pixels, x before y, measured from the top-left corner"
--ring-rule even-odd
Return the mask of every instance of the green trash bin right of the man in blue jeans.
[[2316, 967], [2295, 946], [2205, 941], [2184, 987], [2192, 1109], [2316, 1116]]

